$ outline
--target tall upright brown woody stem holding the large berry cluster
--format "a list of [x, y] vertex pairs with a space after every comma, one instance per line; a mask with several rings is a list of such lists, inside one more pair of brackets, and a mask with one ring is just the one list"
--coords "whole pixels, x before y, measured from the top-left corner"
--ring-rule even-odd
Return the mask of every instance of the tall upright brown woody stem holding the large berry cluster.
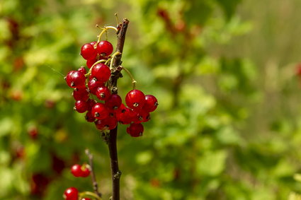
[[[125, 33], [127, 31], [127, 25], [129, 20], [123, 19], [123, 23], [118, 24], [118, 33], [117, 33], [117, 46], [116, 52], [120, 52], [115, 59], [113, 60], [113, 71], [109, 80], [109, 88], [111, 93], [117, 94], [117, 80], [122, 77], [120, 73], [121, 57], [123, 53], [123, 45], [125, 44]], [[117, 155], [117, 127], [110, 130], [110, 135], [108, 138], [108, 150], [110, 153], [110, 169], [112, 172], [112, 200], [120, 199], [120, 175], [121, 172], [118, 167], [118, 155]]]

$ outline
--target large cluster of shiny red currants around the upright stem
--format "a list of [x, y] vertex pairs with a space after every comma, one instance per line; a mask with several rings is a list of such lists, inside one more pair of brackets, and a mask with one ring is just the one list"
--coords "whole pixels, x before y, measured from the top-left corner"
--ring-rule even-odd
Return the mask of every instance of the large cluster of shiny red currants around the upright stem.
[[149, 121], [149, 112], [156, 110], [157, 99], [153, 95], [144, 95], [140, 90], [130, 90], [125, 97], [126, 107], [118, 94], [110, 92], [108, 64], [113, 61], [114, 55], [110, 57], [112, 52], [113, 45], [105, 40], [81, 47], [81, 56], [86, 59], [89, 72], [81, 66], [77, 71], [69, 71], [65, 77], [67, 85], [74, 88], [74, 110], [86, 112], [86, 121], [94, 122], [101, 131], [115, 129], [119, 122], [130, 124], [127, 127], [130, 136], [142, 136], [144, 128], [141, 122]]

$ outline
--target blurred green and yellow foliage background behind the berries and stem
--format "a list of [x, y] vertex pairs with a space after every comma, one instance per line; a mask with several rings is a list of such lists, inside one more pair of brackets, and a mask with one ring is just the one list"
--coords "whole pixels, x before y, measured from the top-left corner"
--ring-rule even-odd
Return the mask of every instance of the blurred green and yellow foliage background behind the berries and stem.
[[123, 66], [159, 100], [144, 136], [118, 128], [122, 199], [301, 199], [299, 0], [1, 0], [0, 199], [91, 191], [69, 172], [85, 148], [109, 199], [106, 143], [63, 77], [116, 12]]

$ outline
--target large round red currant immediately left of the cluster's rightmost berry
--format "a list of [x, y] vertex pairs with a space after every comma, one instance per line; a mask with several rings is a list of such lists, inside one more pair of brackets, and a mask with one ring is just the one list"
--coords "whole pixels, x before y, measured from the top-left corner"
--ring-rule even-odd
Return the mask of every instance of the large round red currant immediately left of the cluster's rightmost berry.
[[125, 96], [125, 103], [133, 110], [140, 110], [145, 103], [144, 93], [140, 90], [130, 90]]

